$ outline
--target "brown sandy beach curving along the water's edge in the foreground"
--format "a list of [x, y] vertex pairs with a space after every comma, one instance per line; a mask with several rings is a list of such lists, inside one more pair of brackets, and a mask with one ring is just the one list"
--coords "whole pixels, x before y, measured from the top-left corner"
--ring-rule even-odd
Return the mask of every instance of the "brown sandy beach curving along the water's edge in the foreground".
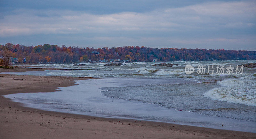
[[[37, 70], [41, 69], [0, 69], [0, 72]], [[23, 107], [2, 96], [53, 92], [58, 87], [76, 85], [73, 80], [87, 79], [90, 78], [1, 74], [0, 138], [256, 138], [255, 133], [49, 112]]]

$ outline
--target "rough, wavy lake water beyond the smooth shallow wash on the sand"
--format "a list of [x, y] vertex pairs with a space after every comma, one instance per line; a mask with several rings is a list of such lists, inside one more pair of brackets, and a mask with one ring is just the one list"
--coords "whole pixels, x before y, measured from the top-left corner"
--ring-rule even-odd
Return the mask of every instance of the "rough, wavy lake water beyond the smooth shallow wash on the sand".
[[[186, 64], [197, 70], [199, 65], [208, 68], [209, 65], [236, 66], [251, 62], [255, 63], [256, 60], [156, 62], [179, 64], [173, 67], [150, 66], [156, 64], [153, 62], [124, 63], [122, 66], [103, 66], [105, 63], [86, 63], [86, 66], [38, 64], [27, 66], [96, 70], [47, 70], [11, 74], [145, 79], [150, 82], [139, 82], [136, 85], [124, 82], [125, 86], [101, 88], [107, 90], [103, 91], [102, 95], [127, 101], [153, 103], [168, 109], [256, 121], [256, 68], [245, 67], [242, 74], [197, 74], [196, 71], [189, 75], [185, 73]], [[172, 80], [166, 82], [161, 79], [185, 82], [171, 83]]]

